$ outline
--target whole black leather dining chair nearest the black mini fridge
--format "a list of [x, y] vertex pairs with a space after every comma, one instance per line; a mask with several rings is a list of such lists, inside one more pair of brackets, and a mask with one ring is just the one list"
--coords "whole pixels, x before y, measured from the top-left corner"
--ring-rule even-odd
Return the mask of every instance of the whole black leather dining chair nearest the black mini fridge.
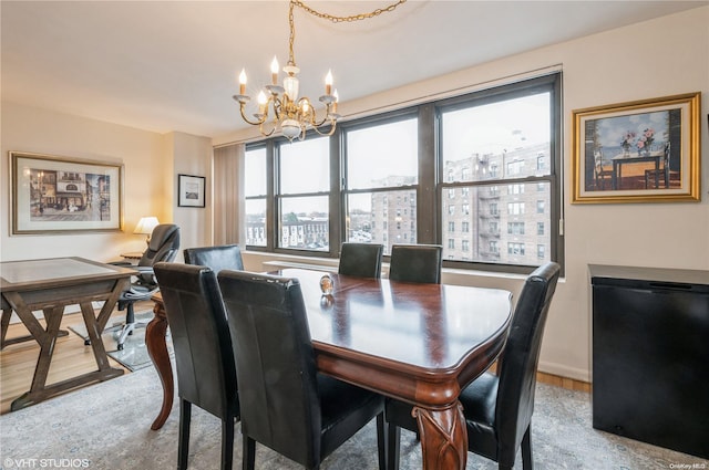
[[[522, 288], [499, 375], [484, 373], [460, 395], [467, 429], [467, 450], [512, 469], [522, 448], [522, 468], [532, 470], [532, 412], [544, 324], [559, 265], [549, 262], [530, 274]], [[418, 430], [411, 405], [387, 400], [389, 470], [399, 468], [400, 428]]]

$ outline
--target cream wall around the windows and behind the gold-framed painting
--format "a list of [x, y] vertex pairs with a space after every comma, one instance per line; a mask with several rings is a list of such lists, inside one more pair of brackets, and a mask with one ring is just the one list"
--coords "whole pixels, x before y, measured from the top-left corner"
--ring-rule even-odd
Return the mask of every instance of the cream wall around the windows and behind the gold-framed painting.
[[[563, 88], [563, 161], [566, 276], [552, 305], [540, 368], [590, 379], [590, 285], [588, 264], [625, 264], [709, 270], [709, 7], [628, 25], [592, 36], [506, 58], [458, 73], [341, 103], [345, 116], [397, 107], [420, 96], [474, 90], [504, 77], [561, 65]], [[484, 44], [470, 46], [484, 48]], [[502, 79], [502, 80], [501, 80]], [[701, 92], [701, 202], [572, 205], [572, 111], [635, 100]], [[460, 92], [458, 92], [460, 93]], [[449, 93], [451, 94], [451, 93]], [[253, 130], [215, 139], [245, 140]], [[281, 257], [282, 258], [282, 257]], [[259, 269], [268, 257], [246, 255]], [[500, 286], [515, 294], [518, 276], [465, 275], [446, 272], [444, 282]], [[709, 280], [708, 280], [709, 281]]]

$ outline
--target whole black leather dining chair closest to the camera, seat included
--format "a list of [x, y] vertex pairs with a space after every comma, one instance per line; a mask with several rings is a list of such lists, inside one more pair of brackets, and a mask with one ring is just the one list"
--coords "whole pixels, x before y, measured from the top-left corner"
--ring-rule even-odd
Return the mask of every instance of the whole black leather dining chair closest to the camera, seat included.
[[386, 468], [383, 399], [316, 368], [297, 279], [222, 271], [242, 403], [244, 469], [256, 442], [307, 469], [377, 417], [379, 468]]

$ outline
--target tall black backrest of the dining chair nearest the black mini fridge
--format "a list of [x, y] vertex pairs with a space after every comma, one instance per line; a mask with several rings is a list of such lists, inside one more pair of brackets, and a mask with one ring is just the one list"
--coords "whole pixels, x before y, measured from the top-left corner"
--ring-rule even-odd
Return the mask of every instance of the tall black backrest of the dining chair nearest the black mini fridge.
[[495, 421], [500, 456], [514, 459], [532, 419], [542, 336], [559, 270], [554, 262], [537, 268], [527, 276], [515, 306], [497, 369]]

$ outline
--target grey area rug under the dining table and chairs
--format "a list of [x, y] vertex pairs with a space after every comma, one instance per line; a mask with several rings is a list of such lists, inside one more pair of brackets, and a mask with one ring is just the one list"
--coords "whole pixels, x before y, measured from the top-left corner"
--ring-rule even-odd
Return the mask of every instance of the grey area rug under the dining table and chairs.
[[[163, 391], [157, 373], [144, 368], [0, 416], [0, 470], [86, 468], [91, 470], [174, 470], [177, 464], [178, 401], [165, 426], [151, 430]], [[222, 425], [193, 407], [189, 470], [219, 468]], [[38, 438], [40, 437], [40, 438]], [[698, 457], [593, 429], [590, 396], [538, 384], [532, 419], [534, 466], [540, 470], [709, 469]], [[302, 470], [285, 457], [256, 446], [257, 470]], [[35, 460], [31, 460], [35, 459]], [[40, 460], [45, 459], [45, 460]], [[64, 460], [61, 460], [64, 459]], [[60, 466], [62, 463], [63, 466]], [[23, 467], [22, 467], [23, 466]], [[240, 425], [234, 439], [234, 468], [242, 466]], [[373, 422], [328, 457], [322, 470], [376, 470]], [[514, 466], [522, 469], [520, 456]], [[421, 469], [421, 449], [412, 432], [402, 431], [401, 470]], [[466, 470], [497, 466], [469, 453]]]

